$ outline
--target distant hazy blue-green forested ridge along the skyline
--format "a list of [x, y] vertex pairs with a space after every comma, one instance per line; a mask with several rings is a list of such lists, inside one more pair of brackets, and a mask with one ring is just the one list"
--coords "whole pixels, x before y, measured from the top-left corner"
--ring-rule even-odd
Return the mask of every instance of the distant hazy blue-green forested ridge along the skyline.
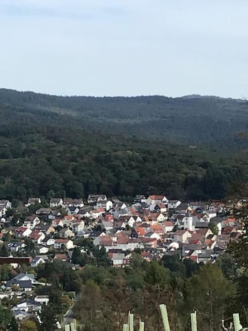
[[13, 109], [15, 116], [46, 112], [47, 117], [61, 120], [58, 114], [62, 114], [74, 126], [108, 134], [217, 148], [247, 147], [238, 133], [247, 131], [248, 106], [231, 98], [63, 97], [0, 89], [0, 106], [8, 117], [13, 117]]

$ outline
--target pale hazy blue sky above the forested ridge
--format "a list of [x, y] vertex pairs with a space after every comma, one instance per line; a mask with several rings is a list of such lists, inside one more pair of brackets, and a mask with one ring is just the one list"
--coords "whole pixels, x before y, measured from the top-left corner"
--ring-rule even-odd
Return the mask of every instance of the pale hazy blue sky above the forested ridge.
[[248, 1], [0, 0], [0, 87], [248, 97]]

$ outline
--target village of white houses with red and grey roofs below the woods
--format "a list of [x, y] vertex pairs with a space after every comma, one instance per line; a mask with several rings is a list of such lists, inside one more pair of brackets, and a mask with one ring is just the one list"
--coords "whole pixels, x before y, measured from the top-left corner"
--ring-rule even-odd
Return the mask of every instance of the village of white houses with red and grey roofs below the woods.
[[240, 234], [238, 221], [221, 201], [183, 203], [165, 195], [137, 195], [126, 203], [91, 194], [87, 201], [51, 198], [49, 207], [42, 205], [41, 198], [29, 198], [16, 218], [12, 203], [0, 200], [0, 264], [13, 269], [10, 280], [1, 278], [0, 299], [17, 298], [11, 310], [18, 321], [39, 315], [49, 301], [33, 295], [36, 286], [49, 284], [25, 270], [56, 260], [83, 268], [72, 262], [79, 238], [104, 249], [113, 268], [125, 268], [133, 252], [148, 262], [175, 254], [197, 264], [214, 263]]

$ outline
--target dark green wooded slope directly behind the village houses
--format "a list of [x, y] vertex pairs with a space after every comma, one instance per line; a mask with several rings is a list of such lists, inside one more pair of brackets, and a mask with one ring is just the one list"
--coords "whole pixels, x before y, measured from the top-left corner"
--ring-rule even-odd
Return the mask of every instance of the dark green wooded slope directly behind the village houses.
[[221, 199], [246, 180], [243, 164], [209, 149], [102, 135], [79, 129], [66, 116], [15, 111], [11, 124], [0, 124], [1, 199], [45, 199], [51, 191], [73, 198], [105, 193], [126, 201], [140, 193]]

